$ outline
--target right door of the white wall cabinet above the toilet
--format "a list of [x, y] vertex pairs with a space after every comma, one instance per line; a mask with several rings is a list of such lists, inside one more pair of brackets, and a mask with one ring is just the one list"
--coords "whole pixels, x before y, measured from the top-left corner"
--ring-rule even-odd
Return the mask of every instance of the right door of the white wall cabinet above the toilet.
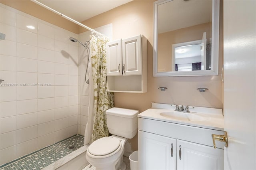
[[122, 40], [123, 75], [142, 74], [141, 36]]

